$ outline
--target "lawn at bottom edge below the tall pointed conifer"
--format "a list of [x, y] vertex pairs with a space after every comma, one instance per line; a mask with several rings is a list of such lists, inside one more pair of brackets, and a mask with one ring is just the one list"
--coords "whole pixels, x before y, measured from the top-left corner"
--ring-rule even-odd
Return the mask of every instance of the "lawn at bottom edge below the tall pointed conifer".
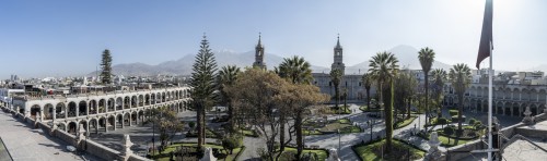
[[[175, 151], [176, 147], [179, 147], [179, 146], [182, 146], [182, 147], [196, 147], [197, 148], [198, 145], [197, 144], [174, 144], [174, 145], [167, 146], [167, 148], [165, 148], [165, 150], [162, 152], [162, 154], [160, 154], [156, 151], [155, 152], [156, 154], [152, 156], [152, 159], [154, 159], [156, 161], [168, 161], [170, 157], [171, 157], [170, 156], [171, 151]], [[240, 153], [242, 150], [242, 148], [235, 148], [232, 151], [232, 154], [228, 154], [226, 153], [228, 150], [223, 150], [224, 148], [222, 148], [222, 146], [207, 144], [207, 145], [203, 145], [203, 147], [211, 147], [212, 149], [221, 149], [220, 152], [223, 154], [226, 154], [226, 156], [225, 156], [225, 158], [220, 158], [220, 159], [225, 160], [225, 161], [234, 161], [237, 153]]]

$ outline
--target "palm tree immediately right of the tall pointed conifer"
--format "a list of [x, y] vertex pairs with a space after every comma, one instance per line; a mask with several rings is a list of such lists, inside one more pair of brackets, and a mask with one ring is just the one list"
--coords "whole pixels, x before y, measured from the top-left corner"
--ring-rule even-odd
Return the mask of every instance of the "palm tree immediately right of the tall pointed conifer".
[[230, 96], [228, 96], [226, 91], [224, 90], [226, 86], [231, 86], [235, 83], [237, 75], [241, 73], [240, 67], [235, 65], [228, 65], [228, 66], [222, 66], [222, 69], [219, 71], [218, 75], [218, 85], [219, 85], [219, 91], [220, 91], [220, 103], [222, 106], [228, 107], [228, 120], [230, 122], [230, 128], [233, 129], [234, 127], [234, 121], [232, 120], [233, 117], [233, 107], [230, 103], [231, 99]]

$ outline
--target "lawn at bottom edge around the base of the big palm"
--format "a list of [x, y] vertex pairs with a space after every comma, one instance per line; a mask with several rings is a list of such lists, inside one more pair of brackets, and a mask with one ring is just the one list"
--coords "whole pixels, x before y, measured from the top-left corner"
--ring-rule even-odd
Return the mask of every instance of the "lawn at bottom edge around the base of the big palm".
[[[353, 150], [357, 152], [357, 156], [364, 161], [381, 161], [382, 160], [382, 149], [385, 148], [385, 139], [381, 141], [373, 143], [370, 145], [361, 145], [354, 146]], [[383, 153], [384, 160], [406, 160], [408, 159], [408, 150], [410, 150], [410, 159], [418, 160], [423, 158], [426, 151], [420, 149], [416, 149], [412, 146], [409, 146], [405, 143], [393, 140], [393, 149], [391, 153]]]

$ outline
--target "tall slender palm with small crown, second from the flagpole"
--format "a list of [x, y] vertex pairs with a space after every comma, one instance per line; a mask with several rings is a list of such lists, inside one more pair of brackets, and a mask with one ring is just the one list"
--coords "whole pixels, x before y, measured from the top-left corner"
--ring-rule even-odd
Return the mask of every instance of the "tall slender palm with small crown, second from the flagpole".
[[[429, 117], [429, 71], [431, 71], [431, 66], [433, 65], [433, 61], [435, 59], [435, 52], [430, 48], [422, 48], [418, 51], [418, 59], [420, 60], [421, 70], [423, 71], [423, 75], [426, 78], [426, 115]], [[426, 119], [426, 124], [429, 122], [429, 119]], [[426, 126], [426, 132], [428, 132], [428, 126]]]

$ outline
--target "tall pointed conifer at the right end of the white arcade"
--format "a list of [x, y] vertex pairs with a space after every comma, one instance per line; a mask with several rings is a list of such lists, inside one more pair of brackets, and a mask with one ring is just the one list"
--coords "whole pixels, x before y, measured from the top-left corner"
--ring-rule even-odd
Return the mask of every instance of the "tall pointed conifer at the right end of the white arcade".
[[214, 53], [209, 49], [209, 41], [203, 35], [200, 49], [196, 55], [190, 77], [191, 106], [197, 111], [198, 148], [205, 143], [206, 135], [206, 109], [210, 109], [217, 102], [217, 61]]

